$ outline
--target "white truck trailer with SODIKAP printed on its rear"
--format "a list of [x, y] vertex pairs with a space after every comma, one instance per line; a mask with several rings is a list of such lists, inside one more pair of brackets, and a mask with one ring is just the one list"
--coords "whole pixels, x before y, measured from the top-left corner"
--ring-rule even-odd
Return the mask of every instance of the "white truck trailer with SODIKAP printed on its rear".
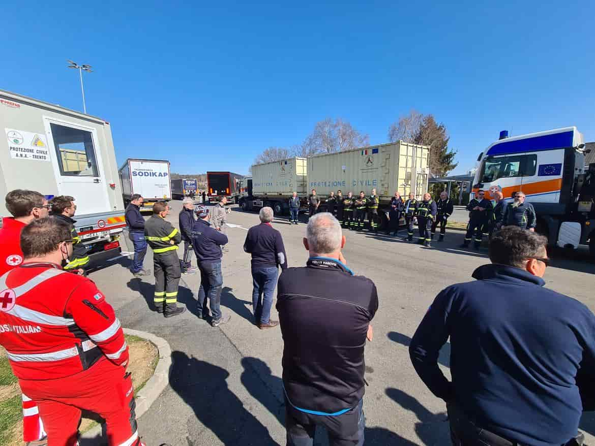
[[141, 212], [152, 211], [159, 200], [171, 200], [169, 161], [129, 158], [120, 168], [120, 180], [126, 206], [133, 194], [142, 195]]

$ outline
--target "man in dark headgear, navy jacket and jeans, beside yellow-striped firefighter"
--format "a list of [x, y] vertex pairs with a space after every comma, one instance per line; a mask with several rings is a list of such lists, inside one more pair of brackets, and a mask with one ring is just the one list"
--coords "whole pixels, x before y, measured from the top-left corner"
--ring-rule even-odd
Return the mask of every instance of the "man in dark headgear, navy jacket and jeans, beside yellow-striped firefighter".
[[221, 246], [227, 244], [227, 235], [215, 230], [209, 224], [209, 209], [205, 205], [195, 208], [198, 220], [192, 227], [192, 247], [201, 271], [201, 287], [198, 289], [198, 314], [201, 319], [208, 319], [209, 299], [212, 313], [212, 326], [223, 325], [231, 316], [220, 310], [223, 273], [221, 272]]

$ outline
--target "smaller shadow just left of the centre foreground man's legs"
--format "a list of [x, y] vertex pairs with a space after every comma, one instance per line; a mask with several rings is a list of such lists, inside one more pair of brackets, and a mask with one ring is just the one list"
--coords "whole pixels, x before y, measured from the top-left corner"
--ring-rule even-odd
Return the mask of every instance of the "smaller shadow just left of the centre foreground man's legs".
[[281, 378], [273, 376], [267, 363], [255, 357], [242, 358], [242, 366], [244, 370], [240, 381], [246, 390], [277, 418], [281, 426], [285, 426], [285, 403]]

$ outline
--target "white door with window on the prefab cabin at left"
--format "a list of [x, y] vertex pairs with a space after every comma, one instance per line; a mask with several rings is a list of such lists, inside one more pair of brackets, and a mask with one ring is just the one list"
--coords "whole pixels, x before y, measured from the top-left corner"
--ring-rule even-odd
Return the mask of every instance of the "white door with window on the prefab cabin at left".
[[111, 211], [96, 129], [48, 117], [44, 122], [58, 193], [76, 199], [79, 215]]

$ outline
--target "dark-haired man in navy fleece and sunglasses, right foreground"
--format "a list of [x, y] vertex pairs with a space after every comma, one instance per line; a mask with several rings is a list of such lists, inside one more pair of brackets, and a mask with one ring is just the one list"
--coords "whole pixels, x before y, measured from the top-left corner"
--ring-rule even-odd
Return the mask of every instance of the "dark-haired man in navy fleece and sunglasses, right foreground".
[[[577, 435], [577, 375], [595, 380], [595, 316], [542, 288], [546, 244], [518, 227], [494, 233], [492, 264], [441, 291], [415, 332], [411, 360], [446, 401], [453, 444], [553, 446]], [[449, 336], [452, 382], [437, 364]]]

